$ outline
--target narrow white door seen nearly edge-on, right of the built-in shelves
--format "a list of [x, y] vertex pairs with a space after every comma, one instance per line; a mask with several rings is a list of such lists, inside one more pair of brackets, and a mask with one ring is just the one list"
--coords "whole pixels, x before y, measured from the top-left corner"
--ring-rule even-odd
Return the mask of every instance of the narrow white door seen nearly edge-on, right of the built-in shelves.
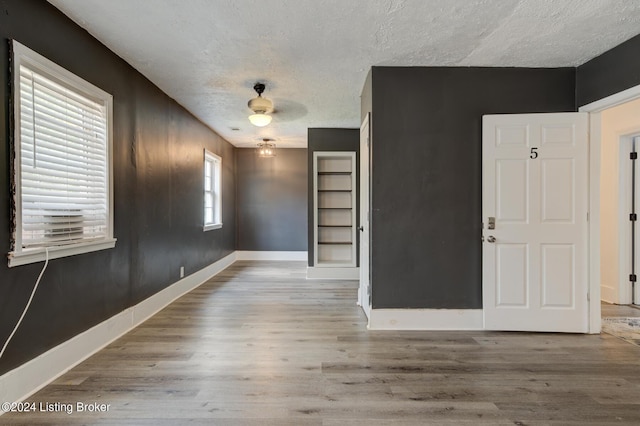
[[358, 304], [367, 318], [371, 311], [369, 282], [369, 115], [360, 127], [360, 289]]

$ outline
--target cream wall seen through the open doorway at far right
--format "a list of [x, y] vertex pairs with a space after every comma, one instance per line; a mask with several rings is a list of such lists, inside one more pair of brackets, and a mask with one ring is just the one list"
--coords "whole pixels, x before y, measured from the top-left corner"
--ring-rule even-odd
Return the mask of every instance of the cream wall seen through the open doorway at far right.
[[[629, 295], [620, 294], [620, 144], [624, 136], [640, 133], [640, 99], [607, 109], [601, 113], [600, 178], [600, 253], [601, 299], [611, 303], [630, 303]], [[622, 253], [623, 255], [625, 253]], [[625, 297], [626, 296], [626, 297]]]

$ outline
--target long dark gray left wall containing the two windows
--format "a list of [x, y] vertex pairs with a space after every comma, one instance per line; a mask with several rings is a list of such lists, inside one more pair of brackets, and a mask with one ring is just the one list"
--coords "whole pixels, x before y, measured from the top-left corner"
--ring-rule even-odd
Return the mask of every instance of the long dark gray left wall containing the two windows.
[[[0, 2], [0, 252], [10, 246], [9, 40], [111, 93], [116, 247], [49, 263], [0, 374], [42, 354], [235, 249], [235, 151], [55, 7]], [[222, 229], [202, 231], [203, 149], [222, 157]], [[42, 262], [0, 262], [0, 342], [29, 298]]]

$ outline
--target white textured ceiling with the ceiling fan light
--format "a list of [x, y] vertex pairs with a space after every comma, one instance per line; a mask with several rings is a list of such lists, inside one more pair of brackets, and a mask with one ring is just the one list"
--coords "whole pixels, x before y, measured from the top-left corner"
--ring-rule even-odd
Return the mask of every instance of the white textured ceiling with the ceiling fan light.
[[[239, 147], [359, 127], [371, 66], [577, 66], [640, 33], [638, 0], [49, 2]], [[262, 129], [257, 81], [276, 108]]]

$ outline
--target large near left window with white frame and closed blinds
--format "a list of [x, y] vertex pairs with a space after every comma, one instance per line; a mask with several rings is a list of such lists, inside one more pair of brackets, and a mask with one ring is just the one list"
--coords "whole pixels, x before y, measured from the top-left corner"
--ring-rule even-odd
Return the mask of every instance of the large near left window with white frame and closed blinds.
[[112, 96], [13, 41], [9, 266], [113, 247]]

